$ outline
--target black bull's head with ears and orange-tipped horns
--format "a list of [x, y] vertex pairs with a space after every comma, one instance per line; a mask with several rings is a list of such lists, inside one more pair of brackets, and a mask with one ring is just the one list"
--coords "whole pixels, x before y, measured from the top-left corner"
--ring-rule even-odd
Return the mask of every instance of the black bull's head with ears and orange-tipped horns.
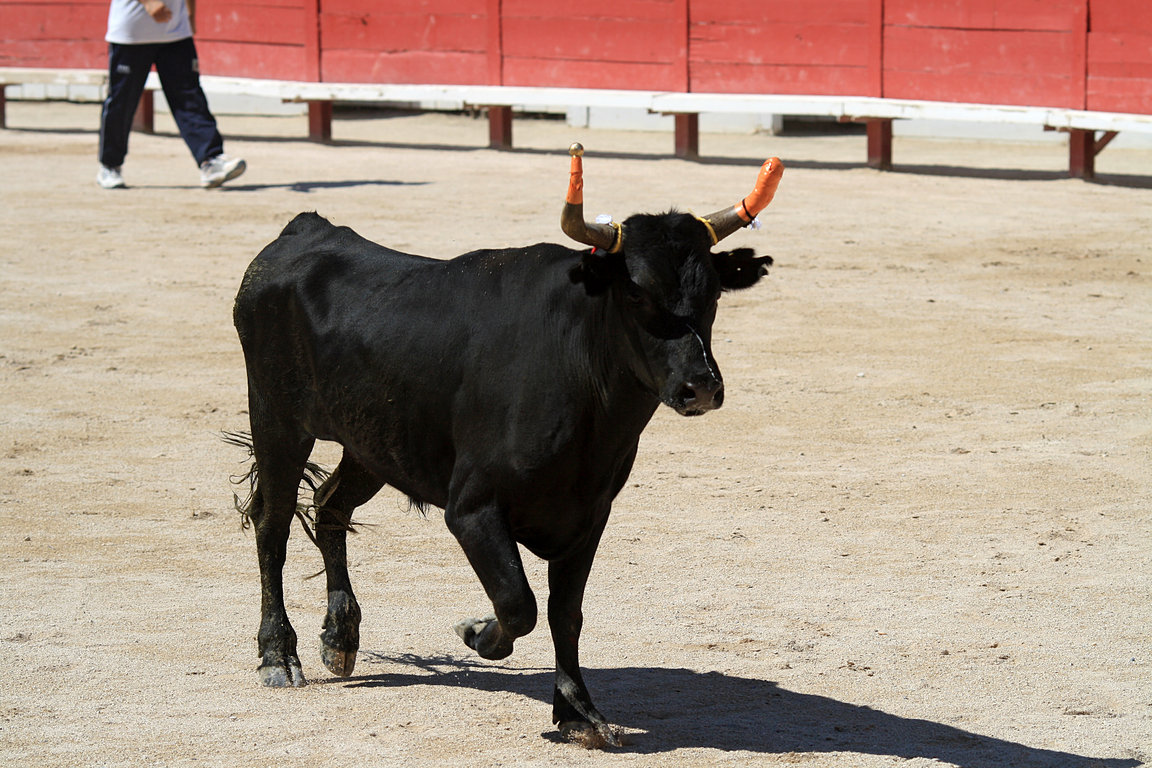
[[661, 402], [683, 416], [720, 408], [723, 379], [712, 356], [717, 303], [725, 290], [756, 284], [772, 257], [757, 257], [746, 248], [712, 252], [712, 246], [748, 226], [772, 200], [783, 173], [780, 159], [764, 164], [748, 197], [707, 216], [670, 211], [600, 223], [584, 220], [583, 147], [574, 144], [569, 153], [560, 226], [592, 246], [573, 269], [573, 281], [593, 295], [608, 292], [620, 307], [639, 352], [635, 373]]

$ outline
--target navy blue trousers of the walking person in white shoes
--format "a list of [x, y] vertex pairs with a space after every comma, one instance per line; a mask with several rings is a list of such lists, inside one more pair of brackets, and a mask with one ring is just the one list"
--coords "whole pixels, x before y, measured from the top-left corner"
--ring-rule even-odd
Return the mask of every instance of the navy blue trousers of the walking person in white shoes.
[[153, 66], [196, 165], [221, 154], [223, 139], [200, 89], [199, 60], [189, 37], [176, 43], [108, 44], [108, 98], [100, 114], [100, 162], [109, 168], [123, 165], [136, 106]]

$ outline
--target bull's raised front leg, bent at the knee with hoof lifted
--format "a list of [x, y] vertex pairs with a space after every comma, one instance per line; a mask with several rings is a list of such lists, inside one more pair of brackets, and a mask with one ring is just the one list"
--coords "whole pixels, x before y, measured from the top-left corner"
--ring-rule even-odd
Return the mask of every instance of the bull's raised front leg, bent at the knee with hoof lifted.
[[511, 538], [508, 519], [494, 502], [461, 495], [445, 510], [448, 530], [460, 542], [468, 562], [484, 585], [494, 614], [465, 618], [456, 633], [484, 659], [505, 659], [516, 638], [536, 626], [536, 595], [524, 575], [520, 548]]

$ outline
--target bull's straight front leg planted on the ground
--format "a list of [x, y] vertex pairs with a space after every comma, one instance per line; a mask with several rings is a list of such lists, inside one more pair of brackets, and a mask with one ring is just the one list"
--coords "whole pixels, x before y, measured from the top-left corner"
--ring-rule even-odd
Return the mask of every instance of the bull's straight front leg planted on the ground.
[[579, 670], [584, 586], [606, 523], [605, 515], [579, 549], [562, 560], [548, 562], [548, 628], [556, 652], [552, 722], [560, 727], [563, 738], [590, 750], [621, 744], [615, 729], [592, 704]]

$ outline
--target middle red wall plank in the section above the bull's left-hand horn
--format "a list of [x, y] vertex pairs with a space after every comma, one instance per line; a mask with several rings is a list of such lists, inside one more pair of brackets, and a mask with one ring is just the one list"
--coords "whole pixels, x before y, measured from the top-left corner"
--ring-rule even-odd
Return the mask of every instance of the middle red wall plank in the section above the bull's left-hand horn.
[[601, 18], [505, 18], [505, 56], [579, 59], [589, 62], [670, 62], [684, 43], [675, 21], [636, 22]]

